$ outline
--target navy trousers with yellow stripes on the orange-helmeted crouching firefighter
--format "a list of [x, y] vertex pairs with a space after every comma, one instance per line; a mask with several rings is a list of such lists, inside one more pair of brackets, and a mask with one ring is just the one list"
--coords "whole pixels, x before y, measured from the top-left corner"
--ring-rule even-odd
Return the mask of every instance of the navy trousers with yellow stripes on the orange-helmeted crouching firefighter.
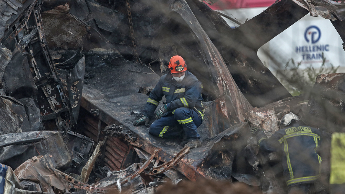
[[149, 133], [162, 138], [176, 138], [181, 135], [181, 127], [185, 132], [187, 140], [199, 139], [197, 127], [203, 123], [203, 119], [198, 113], [190, 108], [177, 108], [174, 111], [155, 120]]

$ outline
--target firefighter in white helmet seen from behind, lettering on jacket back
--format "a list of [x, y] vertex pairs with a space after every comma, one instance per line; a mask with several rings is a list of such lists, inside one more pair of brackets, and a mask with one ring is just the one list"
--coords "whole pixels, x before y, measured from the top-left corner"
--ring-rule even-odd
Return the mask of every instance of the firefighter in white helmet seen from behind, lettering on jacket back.
[[286, 114], [280, 120], [280, 129], [270, 138], [253, 128], [260, 149], [264, 152], [283, 151], [284, 178], [288, 193], [311, 193], [312, 184], [321, 173], [321, 157], [316, 153], [321, 132], [306, 126], [297, 115]]

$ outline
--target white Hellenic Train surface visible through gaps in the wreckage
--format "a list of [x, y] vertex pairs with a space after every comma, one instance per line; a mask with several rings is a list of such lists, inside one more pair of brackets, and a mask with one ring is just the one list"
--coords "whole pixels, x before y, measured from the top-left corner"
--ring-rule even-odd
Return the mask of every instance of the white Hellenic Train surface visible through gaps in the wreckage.
[[[243, 22], [265, 9], [265, 7], [246, 8], [221, 12]], [[238, 26], [228, 19], [225, 20], [230, 27]], [[345, 51], [342, 43], [338, 32], [329, 20], [307, 14], [262, 46], [258, 51], [258, 56], [272, 71], [284, 68], [289, 59], [294, 59], [296, 64], [301, 62], [300, 68], [310, 65], [319, 68], [322, 64], [322, 56], [326, 58], [326, 67], [329, 67], [330, 63], [335, 67], [345, 67]]]

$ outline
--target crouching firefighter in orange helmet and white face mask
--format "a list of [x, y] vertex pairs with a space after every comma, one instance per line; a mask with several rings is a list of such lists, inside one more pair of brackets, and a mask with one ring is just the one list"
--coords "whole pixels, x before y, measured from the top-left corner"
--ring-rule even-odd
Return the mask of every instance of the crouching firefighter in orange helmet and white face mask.
[[164, 95], [166, 104], [157, 111], [157, 120], [151, 124], [149, 133], [162, 138], [178, 138], [184, 132], [188, 141], [185, 146], [199, 147], [201, 142], [197, 128], [203, 122], [205, 111], [201, 103], [201, 82], [187, 71], [186, 61], [181, 56], [171, 57], [168, 67], [170, 73], [160, 77], [150, 93], [141, 118], [133, 125], [145, 123], [148, 126], [149, 118], [154, 115]]

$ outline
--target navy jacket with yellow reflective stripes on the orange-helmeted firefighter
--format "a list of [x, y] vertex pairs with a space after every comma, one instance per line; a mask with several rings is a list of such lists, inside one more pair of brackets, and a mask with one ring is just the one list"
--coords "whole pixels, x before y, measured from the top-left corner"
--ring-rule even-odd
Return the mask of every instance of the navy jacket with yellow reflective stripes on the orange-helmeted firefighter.
[[[202, 89], [201, 82], [189, 71], [186, 71], [185, 78], [181, 83], [173, 79], [170, 73], [163, 75], [151, 91], [142, 114], [151, 118], [162, 96], [165, 95], [166, 105], [170, 113], [176, 108], [186, 107], [197, 111], [203, 119], [205, 109], [201, 103], [201, 100], [203, 100], [203, 97], [201, 97]], [[168, 113], [165, 113], [165, 115]]]

